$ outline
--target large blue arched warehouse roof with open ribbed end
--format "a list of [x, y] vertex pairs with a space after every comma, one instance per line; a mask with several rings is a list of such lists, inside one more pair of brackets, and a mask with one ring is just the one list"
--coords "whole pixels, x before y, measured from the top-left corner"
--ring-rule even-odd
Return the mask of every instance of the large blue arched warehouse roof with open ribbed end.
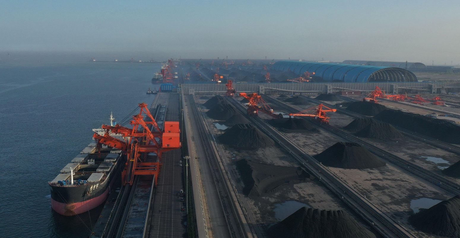
[[273, 64], [272, 69], [285, 72], [292, 71], [299, 75], [307, 71], [311, 73], [314, 72], [315, 76], [331, 82], [417, 82], [417, 77], [414, 73], [397, 67], [305, 61], [278, 61]]

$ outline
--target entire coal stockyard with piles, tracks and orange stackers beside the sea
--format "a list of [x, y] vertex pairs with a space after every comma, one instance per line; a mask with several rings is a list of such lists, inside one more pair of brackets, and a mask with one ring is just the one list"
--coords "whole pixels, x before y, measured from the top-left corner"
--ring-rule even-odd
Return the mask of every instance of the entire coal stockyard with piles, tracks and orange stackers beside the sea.
[[132, 171], [93, 237], [460, 237], [460, 83], [279, 62], [168, 61], [150, 111], [180, 147], [140, 161], [161, 163]]

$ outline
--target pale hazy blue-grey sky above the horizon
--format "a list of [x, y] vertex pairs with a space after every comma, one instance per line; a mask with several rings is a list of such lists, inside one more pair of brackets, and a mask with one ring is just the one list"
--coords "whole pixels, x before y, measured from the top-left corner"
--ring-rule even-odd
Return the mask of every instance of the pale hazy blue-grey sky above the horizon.
[[[436, 3], [441, 2], [441, 3]], [[0, 0], [5, 52], [460, 64], [459, 0]]]

